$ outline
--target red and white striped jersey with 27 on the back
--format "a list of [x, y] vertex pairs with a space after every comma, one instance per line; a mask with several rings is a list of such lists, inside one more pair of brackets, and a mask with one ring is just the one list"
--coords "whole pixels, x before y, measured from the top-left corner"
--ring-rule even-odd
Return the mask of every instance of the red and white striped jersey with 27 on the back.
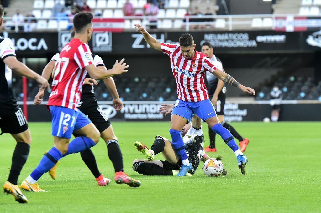
[[87, 74], [84, 67], [90, 64], [95, 63], [87, 44], [76, 38], [66, 44], [56, 62], [52, 92], [47, 105], [77, 110], [83, 81]]

